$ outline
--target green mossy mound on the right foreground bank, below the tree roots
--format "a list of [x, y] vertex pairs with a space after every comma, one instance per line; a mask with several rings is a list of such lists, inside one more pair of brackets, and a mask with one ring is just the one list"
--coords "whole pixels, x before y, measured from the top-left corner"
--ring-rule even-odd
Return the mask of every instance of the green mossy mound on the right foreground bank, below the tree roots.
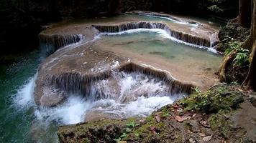
[[242, 93], [232, 89], [227, 84], [218, 84], [211, 87], [206, 93], [196, 92], [180, 101], [186, 111], [195, 110], [207, 114], [217, 113], [220, 110], [230, 111], [243, 102]]

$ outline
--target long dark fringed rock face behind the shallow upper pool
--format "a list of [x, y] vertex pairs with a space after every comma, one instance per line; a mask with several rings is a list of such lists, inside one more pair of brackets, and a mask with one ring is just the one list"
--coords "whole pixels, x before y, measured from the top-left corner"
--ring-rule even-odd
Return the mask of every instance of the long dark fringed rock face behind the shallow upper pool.
[[191, 34], [183, 33], [181, 31], [175, 31], [170, 29], [169, 26], [162, 23], [156, 22], [147, 22], [147, 21], [139, 21], [139, 22], [129, 22], [127, 24], [119, 24], [119, 25], [93, 25], [96, 29], [100, 32], [104, 33], [114, 33], [120, 31], [127, 31], [130, 29], [163, 29], [165, 30], [170, 36], [174, 37], [175, 39], [185, 41], [190, 44], [196, 44], [199, 46], [211, 46], [210, 39], [203, 39], [198, 36], [193, 36]]

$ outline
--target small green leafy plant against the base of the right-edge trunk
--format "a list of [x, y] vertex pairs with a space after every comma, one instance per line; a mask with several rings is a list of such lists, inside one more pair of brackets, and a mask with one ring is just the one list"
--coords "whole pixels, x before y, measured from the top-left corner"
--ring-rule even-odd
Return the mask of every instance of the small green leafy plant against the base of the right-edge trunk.
[[241, 66], [249, 61], [249, 50], [247, 49], [237, 49], [237, 55], [234, 58], [234, 66]]

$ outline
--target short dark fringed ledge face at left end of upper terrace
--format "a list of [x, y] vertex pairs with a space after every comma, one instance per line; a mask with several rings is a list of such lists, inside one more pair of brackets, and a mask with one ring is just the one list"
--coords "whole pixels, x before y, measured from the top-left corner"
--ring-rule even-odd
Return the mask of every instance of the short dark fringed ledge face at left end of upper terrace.
[[71, 35], [45, 35], [39, 34], [40, 43], [52, 44], [55, 50], [69, 44], [75, 44], [83, 39], [83, 34]]

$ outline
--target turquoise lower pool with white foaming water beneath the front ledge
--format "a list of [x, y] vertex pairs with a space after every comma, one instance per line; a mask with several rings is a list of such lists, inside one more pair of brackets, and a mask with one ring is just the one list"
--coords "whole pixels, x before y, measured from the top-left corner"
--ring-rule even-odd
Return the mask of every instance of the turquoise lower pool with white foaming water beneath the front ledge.
[[111, 81], [104, 80], [92, 88], [108, 94], [106, 99], [94, 102], [70, 94], [58, 107], [37, 107], [33, 92], [41, 56], [40, 51], [32, 51], [1, 71], [1, 142], [58, 142], [58, 125], [83, 122], [88, 111], [118, 118], [146, 117], [177, 98], [170, 98], [163, 82], [152, 77], [118, 73], [121, 94], [115, 94], [109, 87]]

